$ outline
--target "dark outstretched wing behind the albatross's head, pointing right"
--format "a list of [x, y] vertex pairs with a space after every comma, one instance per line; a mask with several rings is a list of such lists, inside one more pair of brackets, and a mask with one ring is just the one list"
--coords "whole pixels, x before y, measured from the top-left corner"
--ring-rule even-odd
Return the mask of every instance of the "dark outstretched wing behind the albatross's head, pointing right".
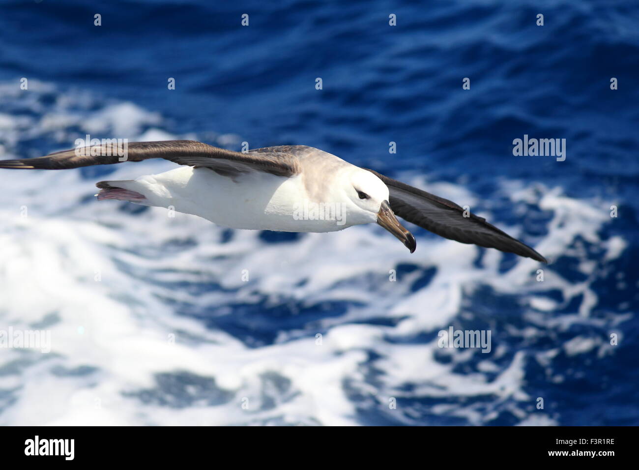
[[547, 263], [546, 258], [537, 251], [489, 224], [483, 217], [470, 212], [466, 212], [468, 217], [464, 217], [464, 209], [456, 203], [380, 175], [372, 169], [368, 171], [378, 176], [389, 187], [390, 208], [408, 222], [450, 240], [497, 248]]

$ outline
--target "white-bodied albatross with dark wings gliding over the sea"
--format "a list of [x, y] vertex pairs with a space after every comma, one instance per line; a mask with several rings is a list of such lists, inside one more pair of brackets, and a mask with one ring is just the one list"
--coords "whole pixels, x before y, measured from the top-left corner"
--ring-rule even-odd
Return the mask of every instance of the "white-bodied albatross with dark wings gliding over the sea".
[[[0, 168], [70, 169], [156, 158], [180, 166], [135, 180], [100, 181], [98, 200], [171, 207], [236, 229], [329, 232], [378, 223], [413, 253], [417, 242], [399, 216], [450, 240], [546, 263], [531, 247], [452, 201], [305, 145], [233, 152], [188, 140], [134, 142], [127, 148], [106, 142], [3, 160]], [[331, 210], [326, 217], [324, 210], [302, 207]]]

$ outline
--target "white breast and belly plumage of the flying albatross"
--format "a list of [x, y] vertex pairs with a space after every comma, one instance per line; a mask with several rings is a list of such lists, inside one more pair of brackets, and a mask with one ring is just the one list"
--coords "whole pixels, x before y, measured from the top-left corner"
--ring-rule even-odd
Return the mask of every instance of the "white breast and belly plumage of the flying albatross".
[[136, 182], [150, 205], [173, 206], [230, 228], [326, 232], [353, 225], [348, 224], [348, 202], [340, 201], [339, 194], [332, 200], [310, 200], [302, 176], [256, 171], [234, 181], [207, 168], [181, 166]]

